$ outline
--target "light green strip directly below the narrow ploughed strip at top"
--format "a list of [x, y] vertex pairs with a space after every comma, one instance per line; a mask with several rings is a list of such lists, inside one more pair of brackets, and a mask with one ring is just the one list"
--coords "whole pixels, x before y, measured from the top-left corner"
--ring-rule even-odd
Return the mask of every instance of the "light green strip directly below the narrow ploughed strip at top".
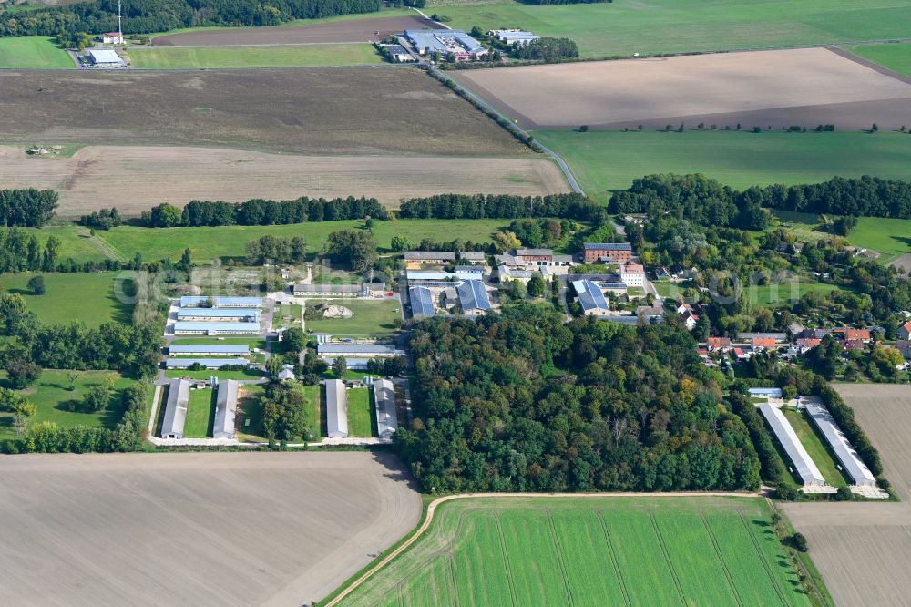
[[363, 66], [383, 63], [373, 45], [161, 46], [129, 51], [141, 69]]

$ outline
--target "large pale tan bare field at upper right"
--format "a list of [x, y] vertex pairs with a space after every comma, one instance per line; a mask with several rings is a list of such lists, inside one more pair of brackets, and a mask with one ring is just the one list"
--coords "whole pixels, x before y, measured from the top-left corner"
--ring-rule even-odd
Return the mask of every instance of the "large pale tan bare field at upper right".
[[898, 129], [911, 84], [824, 48], [455, 72], [531, 129], [743, 128], [793, 124]]

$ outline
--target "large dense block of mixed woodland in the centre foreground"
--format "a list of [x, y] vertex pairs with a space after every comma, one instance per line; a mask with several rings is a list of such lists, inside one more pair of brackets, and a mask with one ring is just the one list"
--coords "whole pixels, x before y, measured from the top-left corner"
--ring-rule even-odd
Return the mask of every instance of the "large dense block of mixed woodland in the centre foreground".
[[695, 342], [517, 304], [415, 326], [415, 420], [395, 441], [425, 490], [755, 489], [760, 463]]

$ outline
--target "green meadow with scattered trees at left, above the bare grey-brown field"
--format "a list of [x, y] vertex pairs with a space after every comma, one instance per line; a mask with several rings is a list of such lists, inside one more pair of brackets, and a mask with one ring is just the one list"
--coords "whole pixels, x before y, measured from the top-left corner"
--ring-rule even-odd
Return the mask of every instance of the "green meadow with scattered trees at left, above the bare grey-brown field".
[[[70, 390], [69, 375], [76, 375], [74, 389]], [[86, 413], [83, 411], [67, 411], [65, 403], [67, 401], [81, 402], [86, 396], [89, 386], [101, 384], [104, 377], [112, 373], [118, 377], [114, 383], [115, 394], [111, 396], [110, 404], [104, 411], [97, 413]], [[0, 374], [3, 381], [0, 385], [5, 386], [5, 372]], [[38, 407], [38, 412], [33, 422], [49, 421], [54, 422], [60, 427], [74, 426], [98, 426], [98, 427], [115, 427], [123, 417], [123, 402], [120, 398], [120, 391], [129, 386], [129, 379], [120, 377], [116, 371], [58, 371], [45, 369], [41, 376], [32, 386], [25, 390], [20, 390], [19, 394], [25, 396], [29, 402]], [[0, 441], [15, 439], [15, 428], [13, 427], [13, 414], [0, 413]]]

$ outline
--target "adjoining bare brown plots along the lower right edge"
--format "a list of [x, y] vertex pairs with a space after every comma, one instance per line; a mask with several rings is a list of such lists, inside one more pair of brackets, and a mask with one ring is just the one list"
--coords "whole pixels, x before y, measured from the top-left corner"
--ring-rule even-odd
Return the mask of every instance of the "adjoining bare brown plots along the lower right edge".
[[907, 605], [911, 587], [911, 387], [835, 386], [883, 458], [901, 503], [783, 504], [838, 605]]

